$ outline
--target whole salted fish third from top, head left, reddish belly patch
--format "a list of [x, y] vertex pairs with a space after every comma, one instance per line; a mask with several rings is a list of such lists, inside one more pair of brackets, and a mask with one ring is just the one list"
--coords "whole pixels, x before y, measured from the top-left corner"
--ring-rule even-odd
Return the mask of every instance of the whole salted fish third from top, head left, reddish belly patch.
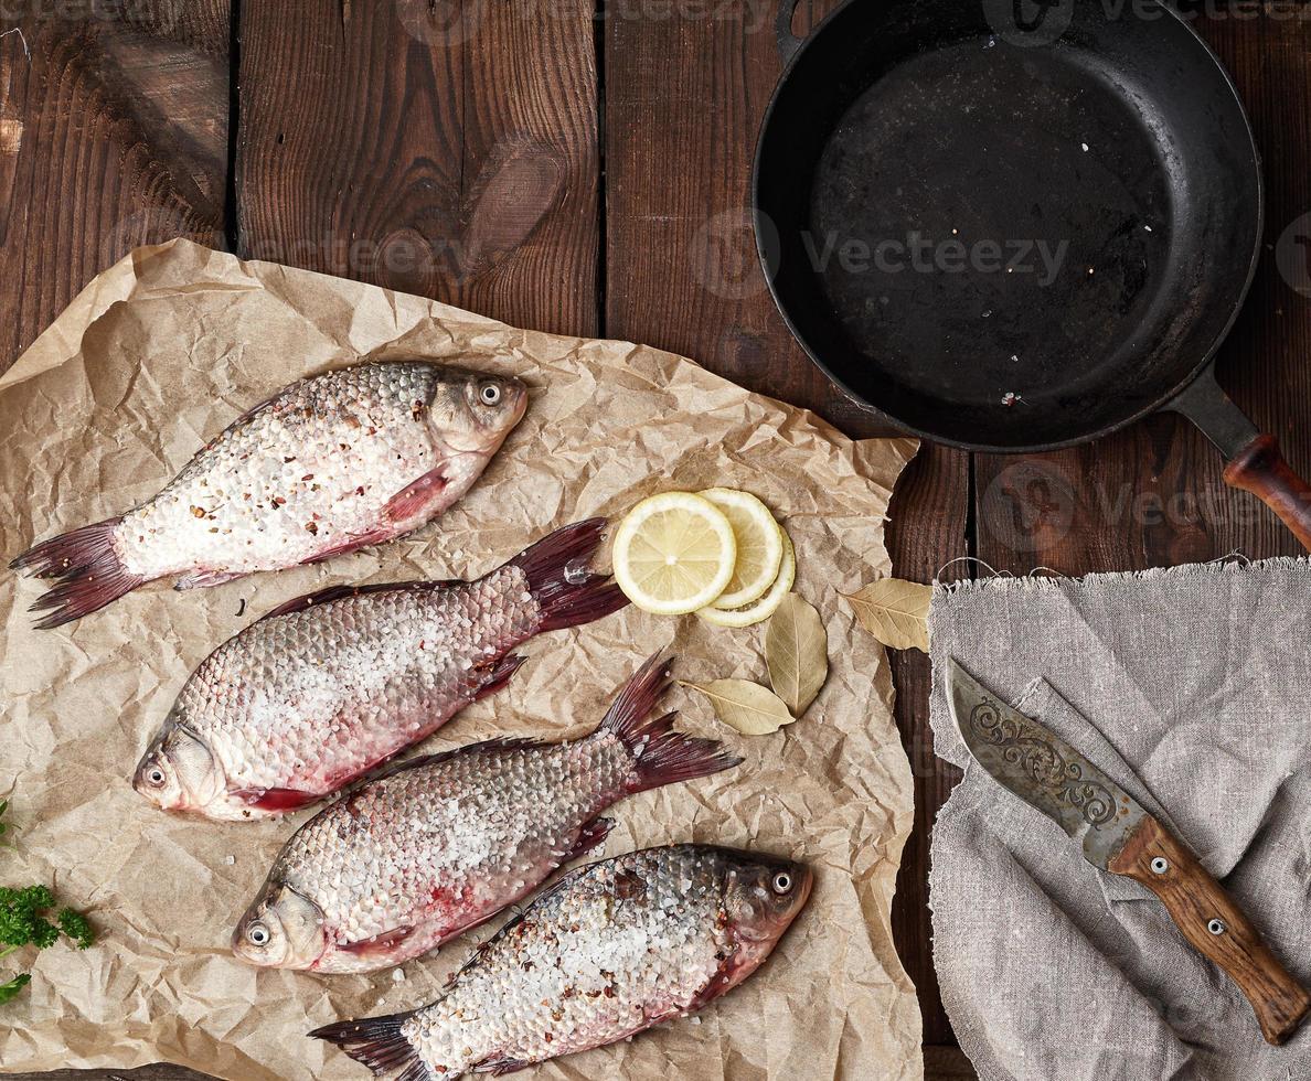
[[644, 664], [590, 735], [492, 740], [396, 767], [283, 846], [233, 933], [254, 964], [374, 971], [435, 949], [604, 841], [623, 797], [737, 765], [649, 718], [669, 687]]

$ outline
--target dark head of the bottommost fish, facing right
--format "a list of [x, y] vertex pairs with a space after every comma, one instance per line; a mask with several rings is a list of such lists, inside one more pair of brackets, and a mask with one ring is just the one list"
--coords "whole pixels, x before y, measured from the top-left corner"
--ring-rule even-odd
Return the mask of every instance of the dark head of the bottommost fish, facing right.
[[814, 875], [805, 863], [758, 853], [726, 853], [724, 912], [737, 949], [725, 962], [717, 993], [750, 976], [810, 899]]

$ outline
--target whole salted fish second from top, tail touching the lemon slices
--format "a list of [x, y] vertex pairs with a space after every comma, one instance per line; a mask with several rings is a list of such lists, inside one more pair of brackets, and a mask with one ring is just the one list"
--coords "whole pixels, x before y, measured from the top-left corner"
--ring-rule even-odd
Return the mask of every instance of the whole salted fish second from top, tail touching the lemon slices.
[[602, 527], [566, 525], [473, 582], [333, 587], [290, 601], [201, 663], [134, 787], [218, 819], [336, 791], [503, 685], [515, 646], [623, 607], [604, 577], [576, 573]]

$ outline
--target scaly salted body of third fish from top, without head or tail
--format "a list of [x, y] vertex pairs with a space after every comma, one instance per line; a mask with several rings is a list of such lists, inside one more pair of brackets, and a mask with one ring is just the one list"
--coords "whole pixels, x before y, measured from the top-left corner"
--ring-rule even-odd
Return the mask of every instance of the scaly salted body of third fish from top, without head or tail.
[[[326, 808], [296, 835], [274, 875], [319, 904], [333, 945], [421, 922], [440, 941], [468, 922], [469, 900], [522, 896], [539, 869], [558, 866], [561, 845], [635, 777], [632, 756], [608, 732], [455, 756]], [[349, 869], [349, 886], [337, 883], [338, 867]], [[444, 904], [434, 905], [434, 891]]]

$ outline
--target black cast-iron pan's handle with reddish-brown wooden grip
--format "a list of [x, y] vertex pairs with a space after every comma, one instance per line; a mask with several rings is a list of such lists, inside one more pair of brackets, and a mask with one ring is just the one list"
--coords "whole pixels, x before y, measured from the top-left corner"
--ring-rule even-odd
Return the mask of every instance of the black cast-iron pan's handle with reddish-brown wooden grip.
[[1224, 484], [1256, 495], [1311, 550], [1311, 485], [1283, 460], [1274, 436], [1261, 434], [1230, 401], [1215, 375], [1203, 372], [1169, 408], [1188, 417], [1221, 448]]

